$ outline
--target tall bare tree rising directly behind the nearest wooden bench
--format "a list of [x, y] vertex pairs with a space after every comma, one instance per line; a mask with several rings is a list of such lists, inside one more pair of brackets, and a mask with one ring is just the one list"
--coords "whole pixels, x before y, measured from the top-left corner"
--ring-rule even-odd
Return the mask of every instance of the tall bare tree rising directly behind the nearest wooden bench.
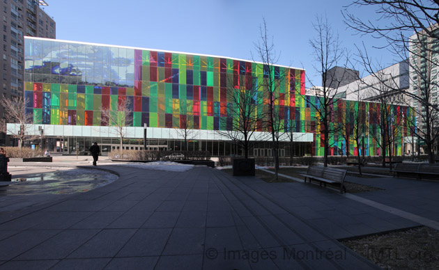
[[[310, 102], [310, 104], [318, 114], [318, 121], [321, 125], [320, 134], [323, 137], [321, 140], [324, 145], [323, 163], [324, 166], [328, 166], [330, 136], [334, 136], [340, 128], [338, 125], [331, 125], [330, 120], [334, 113], [332, 107], [339, 100], [337, 93], [341, 84], [341, 80], [328, 71], [337, 66], [345, 67], [344, 74], [341, 76], [342, 78], [345, 77], [348, 70], [346, 69], [348, 57], [346, 56], [346, 50], [341, 48], [339, 36], [333, 33], [327, 18], [316, 16], [314, 30], [316, 31], [316, 38], [309, 40], [309, 45], [313, 49], [314, 60], [316, 61], [314, 69], [321, 75], [323, 86], [318, 93], [316, 102]], [[311, 81], [310, 83], [312, 85]]]

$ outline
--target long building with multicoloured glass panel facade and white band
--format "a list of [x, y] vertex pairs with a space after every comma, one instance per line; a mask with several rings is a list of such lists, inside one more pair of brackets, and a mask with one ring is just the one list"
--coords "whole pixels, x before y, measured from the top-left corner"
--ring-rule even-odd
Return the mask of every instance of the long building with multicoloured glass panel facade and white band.
[[[213, 156], [233, 154], [233, 143], [218, 132], [232, 129], [236, 120], [230, 89], [252, 81], [255, 95], [261, 97], [254, 99], [261, 100], [256, 104], [256, 116], [260, 116], [256, 132], [263, 135], [268, 133], [263, 123], [269, 107], [268, 95], [259, 86], [272, 76], [278, 86], [275, 110], [284, 131], [295, 134], [291, 151], [323, 155], [315, 109], [320, 97], [305, 95], [305, 70], [276, 65], [270, 74], [262, 63], [240, 59], [43, 38], [26, 38], [25, 48], [24, 97], [26, 111], [33, 115], [31, 133], [43, 129], [45, 138], [54, 139], [47, 146], [53, 150], [70, 153], [78, 147], [81, 151], [92, 141], [105, 149], [118, 148], [118, 136], [105, 125], [102, 109], [116, 110], [125, 103], [130, 104], [132, 116], [126, 127], [126, 148], [142, 149], [146, 124], [148, 149], [180, 150], [182, 138], [177, 131], [187, 122], [194, 132], [189, 150], [208, 150]], [[363, 102], [352, 108], [375, 116], [376, 106]], [[333, 106], [332, 123], [349, 120], [346, 107], [351, 104], [343, 100]], [[403, 120], [409, 108], [394, 106], [394, 112], [395, 120]], [[376, 130], [373, 119], [368, 118], [369, 126]], [[399, 128], [405, 136], [406, 127]], [[250, 154], [270, 155], [268, 141], [256, 143]], [[282, 143], [280, 154], [288, 155], [286, 136]], [[330, 153], [346, 154], [355, 147], [346, 148], [346, 140], [335, 134]], [[368, 154], [379, 152], [373, 138], [367, 141], [367, 149]]]

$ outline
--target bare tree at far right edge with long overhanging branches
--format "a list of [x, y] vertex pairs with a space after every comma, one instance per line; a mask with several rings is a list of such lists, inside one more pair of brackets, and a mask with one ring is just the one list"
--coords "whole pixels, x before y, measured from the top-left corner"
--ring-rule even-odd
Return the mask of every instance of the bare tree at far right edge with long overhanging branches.
[[[376, 21], [352, 13], [353, 8], [373, 7]], [[385, 48], [394, 56], [409, 59], [412, 89], [404, 93], [413, 100], [418, 127], [413, 129], [426, 145], [429, 162], [434, 162], [433, 146], [439, 138], [438, 78], [431, 71], [438, 66], [439, 1], [356, 0], [344, 11], [345, 22], [358, 33], [385, 40]], [[413, 122], [412, 125], [415, 123]], [[421, 124], [421, 125], [419, 125]]]

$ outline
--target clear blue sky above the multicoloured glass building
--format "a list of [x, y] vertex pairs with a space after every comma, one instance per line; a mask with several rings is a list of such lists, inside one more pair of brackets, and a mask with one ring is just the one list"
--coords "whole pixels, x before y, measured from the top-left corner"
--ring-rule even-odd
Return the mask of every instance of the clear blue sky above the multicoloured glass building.
[[[268, 24], [279, 65], [305, 68], [313, 84], [321, 85], [314, 70], [309, 39], [316, 36], [316, 15], [326, 15], [341, 44], [355, 53], [355, 44], [371, 47], [377, 41], [354, 35], [343, 23], [348, 0], [46, 0], [45, 11], [56, 21], [56, 38], [108, 45], [166, 49], [252, 60], [262, 18]], [[376, 17], [373, 10], [356, 10]], [[370, 15], [370, 16], [369, 16]], [[387, 51], [370, 49], [375, 61], [396, 63]], [[259, 59], [255, 59], [259, 60]], [[361, 71], [361, 68], [358, 67]], [[362, 72], [365, 76], [364, 72]], [[307, 87], [311, 84], [307, 81]]]

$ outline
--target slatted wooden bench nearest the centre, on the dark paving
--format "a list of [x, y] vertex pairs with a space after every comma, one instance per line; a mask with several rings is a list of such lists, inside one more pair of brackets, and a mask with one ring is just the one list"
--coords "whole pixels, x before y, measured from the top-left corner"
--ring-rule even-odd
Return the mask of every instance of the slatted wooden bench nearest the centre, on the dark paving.
[[320, 182], [320, 186], [323, 184], [339, 184], [340, 193], [346, 192], [344, 186], [344, 177], [346, 176], [346, 170], [337, 168], [328, 168], [323, 166], [308, 166], [306, 174], [300, 174], [305, 177], [305, 183], [307, 179], [311, 183], [311, 180]]

